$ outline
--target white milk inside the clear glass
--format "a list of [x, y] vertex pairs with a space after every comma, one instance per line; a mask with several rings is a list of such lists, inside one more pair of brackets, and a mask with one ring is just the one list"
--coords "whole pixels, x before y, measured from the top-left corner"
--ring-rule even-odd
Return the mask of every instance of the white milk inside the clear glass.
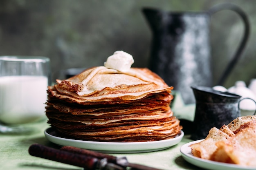
[[0, 77], [0, 121], [21, 124], [43, 117], [47, 85], [45, 76]]

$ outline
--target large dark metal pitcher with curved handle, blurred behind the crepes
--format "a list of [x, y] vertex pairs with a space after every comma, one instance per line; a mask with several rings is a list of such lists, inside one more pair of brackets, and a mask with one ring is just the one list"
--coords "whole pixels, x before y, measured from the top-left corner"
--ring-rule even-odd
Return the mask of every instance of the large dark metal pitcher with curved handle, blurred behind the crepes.
[[175, 91], [180, 91], [185, 104], [195, 103], [190, 86], [213, 86], [209, 24], [211, 15], [224, 9], [241, 16], [245, 31], [240, 46], [217, 85], [223, 84], [245, 48], [249, 37], [247, 15], [233, 4], [220, 4], [206, 12], [143, 9], [153, 31], [149, 68]]

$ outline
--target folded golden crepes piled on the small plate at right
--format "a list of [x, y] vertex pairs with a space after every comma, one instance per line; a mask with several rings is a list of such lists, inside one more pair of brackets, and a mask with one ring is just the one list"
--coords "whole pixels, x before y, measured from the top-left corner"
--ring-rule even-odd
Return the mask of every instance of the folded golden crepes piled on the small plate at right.
[[256, 167], [256, 115], [238, 117], [220, 129], [213, 127], [204, 140], [190, 147], [195, 157]]

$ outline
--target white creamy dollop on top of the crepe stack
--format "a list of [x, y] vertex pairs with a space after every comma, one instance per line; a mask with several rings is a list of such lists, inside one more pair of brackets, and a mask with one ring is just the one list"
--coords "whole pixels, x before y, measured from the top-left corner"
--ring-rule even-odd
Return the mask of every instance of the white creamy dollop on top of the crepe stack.
[[116, 51], [113, 55], [109, 56], [104, 66], [107, 68], [115, 69], [117, 71], [129, 71], [134, 63], [132, 55], [124, 51]]

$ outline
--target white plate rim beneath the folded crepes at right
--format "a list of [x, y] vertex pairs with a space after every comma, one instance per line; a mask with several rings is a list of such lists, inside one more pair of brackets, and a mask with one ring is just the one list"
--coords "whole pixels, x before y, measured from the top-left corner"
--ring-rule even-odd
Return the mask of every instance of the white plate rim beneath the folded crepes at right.
[[[202, 139], [202, 140], [204, 140], [204, 139]], [[180, 148], [182, 157], [189, 163], [191, 163], [195, 166], [198, 166], [200, 168], [208, 169], [208, 170], [256, 170], [256, 167], [239, 166], [239, 165], [231, 164], [231, 163], [210, 161], [210, 160], [201, 159], [201, 158], [193, 156], [191, 153], [191, 148], [189, 146], [191, 144], [198, 143], [202, 140], [189, 142], [187, 144], [184, 144]]]

